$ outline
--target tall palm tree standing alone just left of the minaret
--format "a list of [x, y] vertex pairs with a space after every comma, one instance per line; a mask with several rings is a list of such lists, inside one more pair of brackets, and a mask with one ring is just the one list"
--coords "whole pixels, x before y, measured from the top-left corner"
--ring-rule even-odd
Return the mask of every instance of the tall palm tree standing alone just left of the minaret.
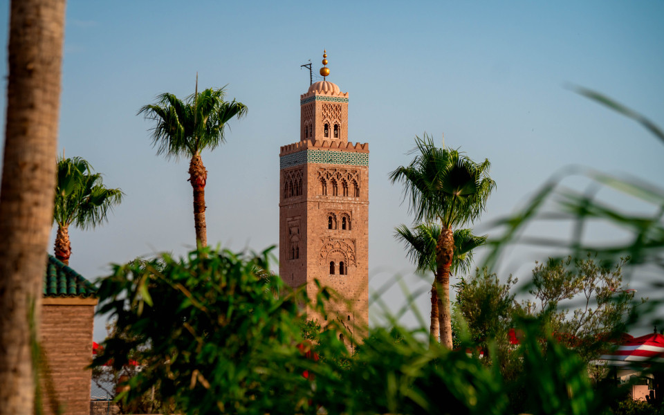
[[208, 171], [203, 166], [201, 151], [213, 150], [224, 142], [223, 130], [231, 118], [246, 115], [247, 107], [241, 102], [225, 102], [224, 89], [208, 88], [187, 97], [185, 102], [172, 93], [158, 95], [156, 104], [142, 107], [138, 114], [147, 120], [156, 121], [152, 129], [152, 145], [157, 154], [169, 157], [190, 158], [189, 181], [194, 190], [194, 227], [196, 245], [208, 245], [205, 224], [205, 182]]

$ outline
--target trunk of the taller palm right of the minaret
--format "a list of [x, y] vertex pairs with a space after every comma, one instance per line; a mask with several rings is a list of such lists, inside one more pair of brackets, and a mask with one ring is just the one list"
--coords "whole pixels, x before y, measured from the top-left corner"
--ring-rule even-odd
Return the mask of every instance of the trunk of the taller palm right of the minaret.
[[452, 313], [450, 312], [450, 266], [454, 257], [454, 232], [441, 230], [436, 244], [436, 283], [438, 284], [438, 315], [441, 344], [452, 349]]

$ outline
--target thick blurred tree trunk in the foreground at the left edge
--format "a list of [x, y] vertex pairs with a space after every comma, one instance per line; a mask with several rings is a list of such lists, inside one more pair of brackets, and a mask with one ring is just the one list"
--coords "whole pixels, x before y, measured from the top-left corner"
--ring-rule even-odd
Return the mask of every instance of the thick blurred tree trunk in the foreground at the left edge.
[[33, 415], [42, 279], [53, 221], [64, 0], [14, 0], [0, 185], [0, 412]]

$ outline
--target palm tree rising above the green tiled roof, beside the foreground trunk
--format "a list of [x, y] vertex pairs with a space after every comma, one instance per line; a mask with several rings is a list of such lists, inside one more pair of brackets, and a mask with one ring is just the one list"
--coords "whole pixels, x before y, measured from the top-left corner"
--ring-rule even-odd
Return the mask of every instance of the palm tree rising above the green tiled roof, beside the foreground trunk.
[[57, 223], [55, 257], [69, 264], [71, 241], [69, 225], [86, 230], [107, 221], [107, 214], [122, 201], [120, 189], [104, 187], [102, 175], [94, 173], [90, 163], [80, 157], [57, 160], [55, 208], [53, 222]]

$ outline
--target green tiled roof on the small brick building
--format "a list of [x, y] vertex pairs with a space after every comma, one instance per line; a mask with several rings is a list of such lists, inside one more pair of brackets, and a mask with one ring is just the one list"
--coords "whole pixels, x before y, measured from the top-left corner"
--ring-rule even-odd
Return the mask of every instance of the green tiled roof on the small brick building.
[[97, 289], [75, 270], [48, 255], [44, 297], [93, 297]]

